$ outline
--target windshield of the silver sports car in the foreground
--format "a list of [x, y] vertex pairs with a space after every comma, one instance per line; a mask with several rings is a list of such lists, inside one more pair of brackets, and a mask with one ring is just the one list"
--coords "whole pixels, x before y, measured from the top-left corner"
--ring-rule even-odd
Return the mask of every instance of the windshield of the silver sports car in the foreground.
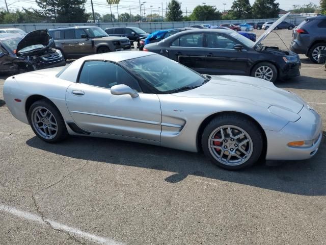
[[189, 90], [207, 81], [197, 72], [161, 55], [125, 60], [121, 64], [161, 93]]

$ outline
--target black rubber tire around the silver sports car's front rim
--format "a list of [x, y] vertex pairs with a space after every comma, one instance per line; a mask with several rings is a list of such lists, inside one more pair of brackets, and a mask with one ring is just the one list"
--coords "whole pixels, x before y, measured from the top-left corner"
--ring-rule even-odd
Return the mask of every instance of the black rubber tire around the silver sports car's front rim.
[[[219, 127], [230, 125], [246, 131], [246, 133], [250, 136], [252, 142], [251, 155], [249, 155], [247, 159], [243, 159], [243, 162], [238, 165], [228, 165], [227, 163], [223, 163], [223, 160], [216, 160], [216, 158], [213, 156], [214, 154], [212, 154], [210, 151], [210, 146], [208, 146], [211, 142], [211, 134], [213, 134], [216, 129], [218, 129]], [[219, 115], [212, 119], [204, 129], [204, 132], [202, 134], [202, 149], [205, 156], [208, 157], [214, 164], [218, 165], [219, 167], [228, 170], [239, 170], [245, 167], [249, 167], [255, 162], [257, 162], [257, 160], [261, 156], [263, 149], [263, 137], [260, 129], [256, 126], [256, 123], [253, 120], [238, 114]], [[229, 151], [229, 149], [226, 150], [227, 153]], [[220, 153], [218, 153], [218, 155], [219, 154]]]

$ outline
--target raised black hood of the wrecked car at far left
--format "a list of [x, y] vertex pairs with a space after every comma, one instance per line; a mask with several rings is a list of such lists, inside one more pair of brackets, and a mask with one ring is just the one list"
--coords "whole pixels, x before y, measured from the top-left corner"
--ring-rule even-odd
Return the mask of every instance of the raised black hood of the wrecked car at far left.
[[18, 43], [16, 52], [19, 54], [25, 47], [29, 47], [32, 45], [44, 45], [48, 46], [51, 37], [46, 30], [36, 30], [33, 32], [29, 32], [21, 41]]

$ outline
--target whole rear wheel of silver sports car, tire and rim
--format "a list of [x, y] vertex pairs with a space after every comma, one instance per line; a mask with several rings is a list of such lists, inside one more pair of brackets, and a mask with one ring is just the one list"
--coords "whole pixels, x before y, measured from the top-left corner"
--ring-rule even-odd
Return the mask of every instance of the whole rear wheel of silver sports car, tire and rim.
[[46, 142], [59, 142], [68, 136], [60, 111], [48, 100], [32, 104], [29, 109], [29, 122], [36, 136]]

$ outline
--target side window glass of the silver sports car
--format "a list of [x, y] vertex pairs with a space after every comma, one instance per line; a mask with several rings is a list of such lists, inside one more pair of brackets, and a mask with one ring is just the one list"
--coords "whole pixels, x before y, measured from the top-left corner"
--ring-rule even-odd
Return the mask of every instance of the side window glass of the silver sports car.
[[111, 88], [117, 84], [125, 84], [141, 92], [138, 81], [125, 69], [112, 62], [86, 61], [79, 75], [79, 83]]

